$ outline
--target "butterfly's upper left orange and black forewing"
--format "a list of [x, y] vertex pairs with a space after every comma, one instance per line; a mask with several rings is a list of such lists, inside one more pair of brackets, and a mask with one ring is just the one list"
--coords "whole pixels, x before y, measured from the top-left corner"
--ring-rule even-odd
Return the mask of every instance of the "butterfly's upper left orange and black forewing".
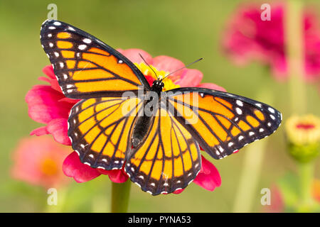
[[121, 97], [149, 84], [142, 72], [109, 45], [62, 21], [45, 21], [41, 44], [68, 98]]

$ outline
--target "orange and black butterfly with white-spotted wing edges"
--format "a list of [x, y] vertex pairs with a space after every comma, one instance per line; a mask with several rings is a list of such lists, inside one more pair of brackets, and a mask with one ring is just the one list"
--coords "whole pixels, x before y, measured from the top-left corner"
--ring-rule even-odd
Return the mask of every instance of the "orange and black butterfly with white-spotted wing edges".
[[68, 118], [81, 162], [124, 166], [153, 195], [187, 187], [201, 170], [200, 148], [221, 159], [274, 133], [282, 121], [272, 106], [228, 92], [163, 91], [163, 78], [150, 86], [127, 57], [62, 21], [43, 23], [41, 44], [63, 94], [81, 99]]

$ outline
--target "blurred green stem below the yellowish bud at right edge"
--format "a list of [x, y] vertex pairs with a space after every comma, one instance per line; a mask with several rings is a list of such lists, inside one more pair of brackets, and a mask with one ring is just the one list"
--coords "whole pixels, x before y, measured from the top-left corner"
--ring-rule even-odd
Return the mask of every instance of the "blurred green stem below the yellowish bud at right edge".
[[300, 184], [300, 207], [302, 211], [309, 211], [311, 209], [312, 199], [312, 182], [314, 179], [314, 163], [299, 162], [299, 184]]

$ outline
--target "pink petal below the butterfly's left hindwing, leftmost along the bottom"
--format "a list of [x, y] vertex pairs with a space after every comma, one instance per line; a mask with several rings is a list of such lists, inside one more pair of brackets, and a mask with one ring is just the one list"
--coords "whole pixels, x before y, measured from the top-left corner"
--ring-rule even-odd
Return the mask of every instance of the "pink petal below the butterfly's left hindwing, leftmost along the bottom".
[[80, 158], [75, 151], [65, 158], [63, 162], [63, 172], [66, 176], [73, 177], [78, 183], [90, 181], [101, 175], [97, 169], [80, 162]]

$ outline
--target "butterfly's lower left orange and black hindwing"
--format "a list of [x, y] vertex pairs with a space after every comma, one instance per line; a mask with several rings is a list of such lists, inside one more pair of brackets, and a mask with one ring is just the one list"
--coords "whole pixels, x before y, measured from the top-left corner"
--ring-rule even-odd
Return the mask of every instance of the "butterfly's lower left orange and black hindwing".
[[130, 133], [142, 101], [138, 98], [92, 98], [75, 104], [68, 119], [68, 135], [80, 160], [91, 167], [121, 169]]

